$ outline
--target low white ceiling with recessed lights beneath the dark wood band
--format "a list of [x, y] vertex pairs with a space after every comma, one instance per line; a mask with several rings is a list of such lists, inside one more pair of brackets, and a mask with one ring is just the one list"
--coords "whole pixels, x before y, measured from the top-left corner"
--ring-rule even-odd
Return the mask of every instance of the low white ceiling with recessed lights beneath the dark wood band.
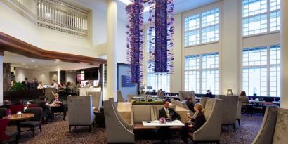
[[98, 65], [89, 65], [86, 63], [67, 63], [55, 60], [40, 60], [28, 58], [23, 55], [4, 52], [4, 63], [11, 63], [11, 67], [27, 68], [28, 70], [44, 70], [44, 71], [57, 71], [57, 70], [79, 70], [91, 67], [98, 67]]

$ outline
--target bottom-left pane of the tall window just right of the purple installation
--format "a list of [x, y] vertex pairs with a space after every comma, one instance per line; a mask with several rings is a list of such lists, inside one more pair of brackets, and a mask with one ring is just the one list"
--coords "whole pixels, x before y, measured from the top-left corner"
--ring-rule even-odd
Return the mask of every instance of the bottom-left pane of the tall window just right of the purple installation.
[[200, 93], [200, 72], [185, 71], [185, 91]]

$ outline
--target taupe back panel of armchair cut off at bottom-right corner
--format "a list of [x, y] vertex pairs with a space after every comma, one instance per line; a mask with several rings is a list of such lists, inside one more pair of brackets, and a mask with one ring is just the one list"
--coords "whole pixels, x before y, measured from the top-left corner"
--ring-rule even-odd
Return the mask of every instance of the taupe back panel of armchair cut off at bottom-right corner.
[[[278, 108], [273, 143], [288, 143], [288, 110]], [[273, 135], [272, 135], [273, 136]]]

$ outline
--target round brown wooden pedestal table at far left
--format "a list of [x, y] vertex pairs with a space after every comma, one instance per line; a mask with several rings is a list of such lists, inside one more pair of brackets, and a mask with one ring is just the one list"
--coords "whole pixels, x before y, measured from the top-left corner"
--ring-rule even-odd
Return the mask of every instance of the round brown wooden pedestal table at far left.
[[22, 113], [22, 114], [12, 114], [10, 117], [6, 116], [5, 119], [10, 119], [11, 121], [16, 122], [17, 130], [18, 130], [18, 138], [21, 136], [21, 126], [20, 123], [34, 117], [34, 114], [30, 113]]

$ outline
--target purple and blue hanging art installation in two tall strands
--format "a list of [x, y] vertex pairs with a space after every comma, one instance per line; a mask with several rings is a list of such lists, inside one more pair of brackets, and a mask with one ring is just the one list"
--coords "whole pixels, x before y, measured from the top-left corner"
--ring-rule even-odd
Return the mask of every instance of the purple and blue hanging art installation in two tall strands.
[[[173, 70], [174, 0], [150, 0], [148, 27], [148, 70], [155, 74], [171, 74]], [[131, 65], [131, 81], [143, 85], [143, 1], [126, 6], [127, 55]]]

